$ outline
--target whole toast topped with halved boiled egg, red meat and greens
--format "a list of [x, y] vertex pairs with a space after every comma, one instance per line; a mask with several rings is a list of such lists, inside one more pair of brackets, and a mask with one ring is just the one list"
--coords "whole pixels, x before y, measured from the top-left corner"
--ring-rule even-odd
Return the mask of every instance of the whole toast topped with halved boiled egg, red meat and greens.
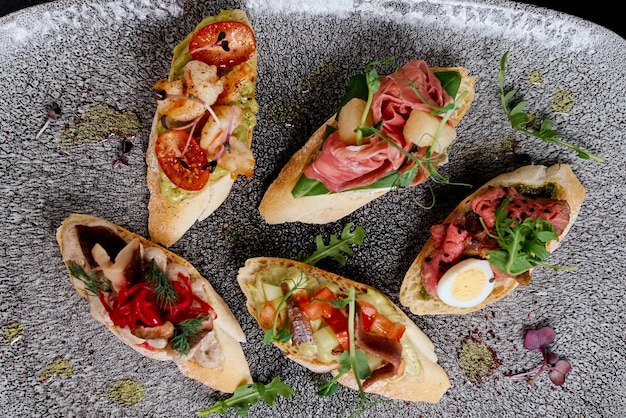
[[585, 187], [567, 164], [502, 174], [438, 225], [409, 267], [400, 303], [419, 315], [464, 314], [528, 285], [576, 221]]

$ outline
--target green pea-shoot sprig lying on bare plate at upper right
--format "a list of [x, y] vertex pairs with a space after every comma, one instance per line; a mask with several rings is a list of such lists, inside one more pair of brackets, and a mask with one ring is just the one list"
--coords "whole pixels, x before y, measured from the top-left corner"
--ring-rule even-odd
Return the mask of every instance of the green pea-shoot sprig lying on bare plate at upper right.
[[504, 113], [511, 122], [511, 127], [519, 132], [525, 133], [530, 136], [534, 136], [546, 142], [552, 142], [554, 144], [567, 147], [578, 154], [579, 158], [584, 160], [594, 160], [603, 163], [604, 158], [585, 151], [575, 145], [565, 142], [562, 138], [563, 134], [552, 129], [553, 122], [550, 119], [542, 119], [539, 130], [529, 127], [528, 124], [533, 120], [531, 114], [526, 113], [527, 101], [522, 100], [512, 108], [509, 108], [509, 102], [513, 99], [513, 96], [517, 93], [516, 90], [504, 91], [504, 75], [506, 70], [506, 61], [508, 59], [509, 52], [505, 52], [500, 59], [500, 71], [498, 72], [498, 85], [500, 86], [500, 103]]

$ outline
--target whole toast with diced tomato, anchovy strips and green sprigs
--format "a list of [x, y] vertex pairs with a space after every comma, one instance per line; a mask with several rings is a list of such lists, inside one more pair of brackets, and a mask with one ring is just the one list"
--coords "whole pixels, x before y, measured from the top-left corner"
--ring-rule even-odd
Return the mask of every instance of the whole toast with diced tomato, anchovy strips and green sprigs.
[[[266, 342], [315, 373], [331, 373], [338, 383], [365, 393], [412, 402], [436, 403], [450, 387], [430, 339], [370, 286], [309, 264], [266, 257], [248, 259], [237, 281]], [[357, 351], [363, 354], [359, 381], [353, 368], [345, 369], [345, 358]]]

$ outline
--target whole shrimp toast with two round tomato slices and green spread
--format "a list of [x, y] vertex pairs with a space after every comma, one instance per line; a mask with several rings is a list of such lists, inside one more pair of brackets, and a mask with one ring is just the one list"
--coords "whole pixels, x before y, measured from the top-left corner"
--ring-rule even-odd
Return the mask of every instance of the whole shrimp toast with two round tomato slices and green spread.
[[166, 247], [254, 175], [258, 103], [256, 39], [242, 10], [200, 22], [173, 50], [167, 79], [154, 84], [157, 109], [146, 152], [148, 230]]

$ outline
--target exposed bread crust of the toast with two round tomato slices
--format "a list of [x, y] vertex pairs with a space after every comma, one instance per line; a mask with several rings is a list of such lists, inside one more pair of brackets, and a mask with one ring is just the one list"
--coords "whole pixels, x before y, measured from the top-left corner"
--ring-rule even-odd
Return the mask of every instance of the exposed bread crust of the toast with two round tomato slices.
[[[242, 10], [235, 10], [234, 16], [250, 27], [250, 21]], [[257, 52], [250, 58], [248, 63], [254, 71], [253, 80], [256, 84], [257, 77]], [[196, 222], [200, 222], [211, 215], [228, 198], [230, 190], [235, 183], [235, 178], [225, 175], [219, 179], [210, 180], [207, 186], [199, 191], [190, 193], [180, 202], [171, 202], [161, 193], [161, 168], [154, 152], [155, 142], [158, 137], [157, 126], [161, 115], [156, 112], [150, 130], [150, 139], [146, 151], [147, 178], [146, 182], [150, 191], [148, 202], [148, 233], [154, 242], [166, 247], [172, 246], [187, 232]], [[252, 144], [252, 129], [248, 130], [248, 144]]]

